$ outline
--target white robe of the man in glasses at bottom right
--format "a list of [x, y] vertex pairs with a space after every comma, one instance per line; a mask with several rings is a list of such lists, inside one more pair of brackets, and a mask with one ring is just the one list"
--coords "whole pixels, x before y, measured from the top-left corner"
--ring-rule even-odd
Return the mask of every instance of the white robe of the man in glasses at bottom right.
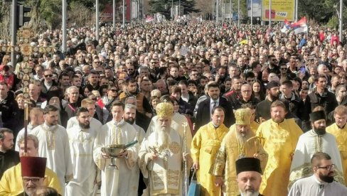
[[321, 183], [315, 175], [302, 178], [294, 183], [288, 196], [346, 196], [347, 187], [336, 181]]

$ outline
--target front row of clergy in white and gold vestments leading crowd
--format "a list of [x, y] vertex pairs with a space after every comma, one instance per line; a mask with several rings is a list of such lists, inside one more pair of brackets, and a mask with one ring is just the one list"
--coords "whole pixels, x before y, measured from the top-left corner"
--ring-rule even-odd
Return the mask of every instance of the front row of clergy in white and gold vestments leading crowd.
[[[44, 122], [26, 137], [18, 134], [21, 163], [5, 171], [0, 195], [35, 195], [43, 186], [60, 195], [96, 195], [100, 182], [101, 195], [138, 195], [140, 171], [143, 195], [185, 195], [183, 162], [196, 170], [200, 195], [347, 195], [347, 107], [336, 107], [336, 123], [328, 127], [324, 109], [316, 107], [311, 131], [303, 133], [284, 118], [279, 100], [260, 125], [254, 109], [237, 109], [230, 128], [218, 106], [194, 136], [169, 99], [156, 106], [146, 133], [134, 123], [133, 104], [114, 102], [113, 120], [103, 126], [90, 107], [83, 100], [67, 129], [58, 125], [56, 107], [31, 109]], [[104, 149], [131, 142], [116, 158]]]

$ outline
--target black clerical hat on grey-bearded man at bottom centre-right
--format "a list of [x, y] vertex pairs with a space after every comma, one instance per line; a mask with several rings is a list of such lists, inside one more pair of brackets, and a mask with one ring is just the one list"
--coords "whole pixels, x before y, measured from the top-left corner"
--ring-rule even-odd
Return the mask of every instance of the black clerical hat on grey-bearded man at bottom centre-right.
[[260, 168], [260, 160], [257, 158], [245, 157], [236, 160], [236, 175], [245, 171], [255, 171], [262, 174], [262, 168]]

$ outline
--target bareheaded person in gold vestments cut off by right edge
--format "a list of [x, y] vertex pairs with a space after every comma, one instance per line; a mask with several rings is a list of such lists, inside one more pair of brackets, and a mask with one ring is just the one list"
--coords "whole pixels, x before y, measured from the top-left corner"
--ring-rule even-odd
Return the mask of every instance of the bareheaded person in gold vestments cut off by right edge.
[[326, 132], [332, 134], [336, 138], [338, 151], [340, 151], [343, 177], [345, 185], [347, 185], [347, 107], [338, 106], [335, 109], [334, 115], [335, 123], [326, 127]]

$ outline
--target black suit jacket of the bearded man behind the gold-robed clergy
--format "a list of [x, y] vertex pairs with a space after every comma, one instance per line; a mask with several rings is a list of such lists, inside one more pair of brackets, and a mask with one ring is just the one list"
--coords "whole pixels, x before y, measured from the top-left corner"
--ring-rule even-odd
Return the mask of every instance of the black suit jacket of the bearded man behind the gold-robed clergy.
[[[235, 115], [233, 113], [233, 107], [230, 102], [224, 97], [219, 98], [219, 106], [223, 107], [225, 111], [225, 126], [229, 127], [235, 124]], [[205, 124], [210, 122], [210, 97], [200, 102], [198, 105], [198, 112], [196, 114], [196, 131]]]

